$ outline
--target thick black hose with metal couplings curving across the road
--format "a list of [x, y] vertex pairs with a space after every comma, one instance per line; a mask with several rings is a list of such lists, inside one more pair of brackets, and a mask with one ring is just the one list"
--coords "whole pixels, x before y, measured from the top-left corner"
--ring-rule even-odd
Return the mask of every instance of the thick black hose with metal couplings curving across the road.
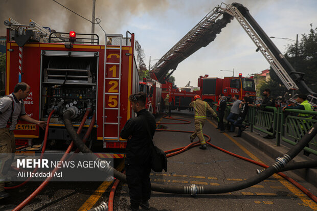
[[[65, 127], [69, 134], [71, 135], [72, 139], [74, 140], [75, 145], [82, 153], [88, 153], [90, 156], [92, 156], [92, 159], [98, 160], [96, 155], [90, 151], [87, 146], [82, 143], [82, 140], [78, 135], [76, 135], [75, 130], [71, 124], [70, 119], [71, 113], [64, 113], [64, 121], [65, 121]], [[66, 121], [67, 120], [67, 121]], [[197, 194], [218, 194], [218, 193], [227, 193], [227, 192], [233, 192], [245, 189], [247, 187], [250, 187], [254, 184], [257, 184], [264, 179], [270, 177], [271, 175], [278, 173], [283, 169], [286, 164], [295, 157], [305, 146], [310, 142], [310, 140], [315, 136], [317, 133], [317, 123], [313, 125], [313, 127], [303, 136], [303, 138], [295, 145], [292, 149], [290, 149], [286, 154], [284, 154], [282, 157], [278, 157], [276, 159], [276, 162], [273, 163], [273, 165], [269, 166], [266, 170], [264, 170], [262, 173], [255, 175], [251, 178], [248, 178], [241, 182], [236, 182], [232, 184], [224, 184], [219, 187], [204, 187], [204, 186], [196, 186], [194, 184], [190, 186], [176, 186], [176, 185], [163, 185], [163, 184], [151, 184], [151, 190], [156, 192], [163, 192], [163, 193], [174, 193], [174, 194], [191, 194], [191, 195], [197, 195]], [[174, 131], [175, 132], [175, 131]], [[188, 131], [191, 132], [191, 131]], [[190, 146], [194, 145], [195, 143], [192, 143], [188, 145], [187, 147], [176, 151], [172, 154], [177, 154], [182, 151], [185, 151]], [[209, 143], [210, 144], [210, 143]], [[211, 144], [210, 144], [211, 145]], [[172, 156], [172, 155], [170, 155]], [[121, 172], [118, 172], [112, 167], [105, 168], [103, 171], [113, 171], [114, 176], [123, 181], [126, 182], [126, 177]]]

